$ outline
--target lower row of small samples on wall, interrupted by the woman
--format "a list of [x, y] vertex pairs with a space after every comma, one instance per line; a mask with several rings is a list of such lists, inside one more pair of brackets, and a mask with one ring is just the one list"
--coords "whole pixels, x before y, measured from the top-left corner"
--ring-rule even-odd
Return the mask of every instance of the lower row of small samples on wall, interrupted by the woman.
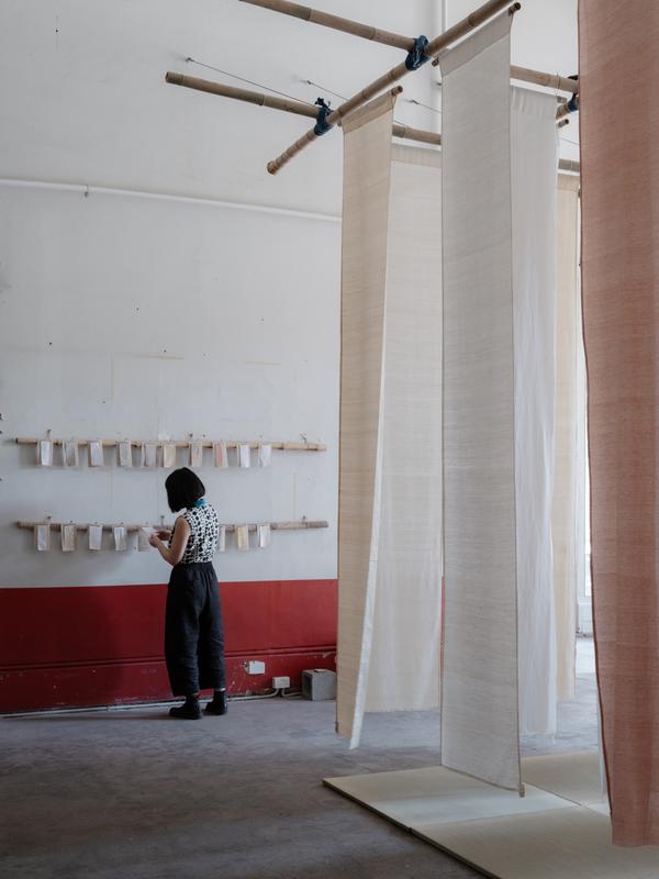
[[[111, 533], [111, 545], [116, 552], [125, 552], [131, 548], [138, 549], [139, 552], [150, 549], [149, 535], [152, 530], [145, 527], [126, 527], [125, 525], [77, 525], [72, 522], [70, 524], [62, 524], [51, 526], [46, 523], [37, 523], [34, 525], [34, 544], [40, 553], [47, 553], [52, 548], [52, 533], [54, 530], [60, 532], [60, 545], [63, 553], [72, 553], [78, 547], [78, 531], [86, 533], [86, 545], [88, 549], [100, 550], [103, 548], [103, 531]], [[270, 545], [271, 527], [269, 523], [257, 525], [232, 525], [228, 528], [230, 533], [234, 536], [234, 546], [241, 552], [248, 552], [249, 549], [265, 549]], [[250, 539], [250, 533], [254, 533], [255, 539]], [[136, 534], [137, 539], [131, 542], [130, 535]], [[217, 552], [224, 553], [227, 549], [227, 526], [220, 525], [217, 535]]]

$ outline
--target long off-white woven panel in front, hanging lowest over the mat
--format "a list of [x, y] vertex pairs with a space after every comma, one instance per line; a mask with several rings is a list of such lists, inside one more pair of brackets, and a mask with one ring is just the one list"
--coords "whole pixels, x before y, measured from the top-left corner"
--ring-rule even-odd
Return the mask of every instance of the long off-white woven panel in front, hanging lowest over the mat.
[[442, 763], [521, 790], [507, 11], [440, 56]]

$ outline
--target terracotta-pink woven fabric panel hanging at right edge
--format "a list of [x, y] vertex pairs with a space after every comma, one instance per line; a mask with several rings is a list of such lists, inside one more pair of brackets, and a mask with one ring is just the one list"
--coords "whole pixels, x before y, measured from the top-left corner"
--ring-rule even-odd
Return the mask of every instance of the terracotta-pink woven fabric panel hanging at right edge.
[[[659, 3], [580, 0], [593, 614], [613, 839], [659, 844]], [[613, 107], [624, 107], [616, 124]]]

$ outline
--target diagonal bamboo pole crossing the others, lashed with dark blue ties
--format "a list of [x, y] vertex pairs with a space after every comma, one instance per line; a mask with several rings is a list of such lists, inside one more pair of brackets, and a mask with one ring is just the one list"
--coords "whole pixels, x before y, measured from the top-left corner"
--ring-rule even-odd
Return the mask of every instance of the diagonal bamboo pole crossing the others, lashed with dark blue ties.
[[[474, 10], [466, 19], [462, 19], [453, 27], [449, 27], [448, 31], [445, 31], [443, 34], [432, 40], [425, 47], [424, 54], [428, 58], [434, 57], [442, 49], [446, 48], [451, 43], [455, 43], [456, 40], [465, 36], [480, 24], [483, 24], [485, 21], [488, 21], [488, 19], [492, 18], [492, 15], [494, 15], [496, 12], [500, 12], [506, 5], [509, 5], [509, 0], [488, 0], [487, 3], [484, 3], [482, 7], [479, 7], [479, 9]], [[513, 14], [518, 9], [521, 9], [521, 3], [515, 2], [509, 8], [509, 12]], [[401, 64], [392, 67], [391, 70], [388, 70], [388, 73], [386, 73], [383, 76], [379, 77], [373, 82], [366, 86], [366, 88], [361, 89], [361, 91], [357, 92], [357, 94], [354, 94], [349, 100], [337, 107], [336, 110], [334, 110], [327, 116], [327, 123], [331, 125], [336, 124], [351, 110], [356, 110], [367, 101], [370, 101], [371, 98], [375, 98], [392, 82], [398, 82], [399, 79], [402, 79], [409, 73], [410, 70], [407, 67], [405, 67], [405, 63], [401, 62]], [[289, 148], [286, 149], [280, 156], [272, 162], [269, 162], [268, 171], [270, 174], [277, 174], [277, 171], [283, 167], [283, 165], [286, 165], [294, 155], [300, 153], [305, 146], [315, 140], [317, 140], [317, 135], [313, 129], [311, 129], [306, 132], [306, 134], [298, 138], [294, 144], [289, 146]]]

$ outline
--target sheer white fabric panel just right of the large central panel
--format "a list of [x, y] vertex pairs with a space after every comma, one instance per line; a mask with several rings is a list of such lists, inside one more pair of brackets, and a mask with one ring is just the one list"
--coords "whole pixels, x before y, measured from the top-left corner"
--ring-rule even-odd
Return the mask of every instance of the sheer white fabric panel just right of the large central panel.
[[511, 89], [520, 731], [556, 733], [556, 98]]

